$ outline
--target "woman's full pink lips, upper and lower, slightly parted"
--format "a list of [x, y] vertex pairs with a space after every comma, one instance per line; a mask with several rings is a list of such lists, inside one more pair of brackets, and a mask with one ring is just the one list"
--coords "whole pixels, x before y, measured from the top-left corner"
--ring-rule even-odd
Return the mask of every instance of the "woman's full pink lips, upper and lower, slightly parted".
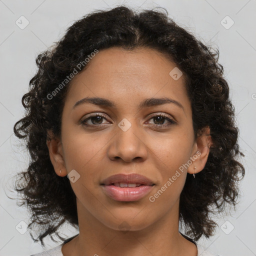
[[[137, 187], [118, 187], [113, 183], [140, 183]], [[152, 190], [154, 183], [140, 174], [115, 174], [102, 181], [100, 184], [103, 192], [116, 201], [137, 201]]]

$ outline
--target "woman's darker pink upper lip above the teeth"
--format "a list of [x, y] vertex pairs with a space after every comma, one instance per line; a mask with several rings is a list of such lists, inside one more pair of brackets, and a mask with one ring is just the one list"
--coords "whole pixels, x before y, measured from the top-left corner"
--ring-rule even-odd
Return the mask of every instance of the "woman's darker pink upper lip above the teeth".
[[118, 183], [118, 182], [123, 182], [123, 183], [139, 183], [143, 185], [154, 185], [154, 183], [148, 179], [147, 177], [137, 174], [137, 173], [130, 173], [130, 174], [115, 174], [112, 176], [109, 176], [105, 178], [101, 184], [102, 185], [109, 185], [111, 183]]

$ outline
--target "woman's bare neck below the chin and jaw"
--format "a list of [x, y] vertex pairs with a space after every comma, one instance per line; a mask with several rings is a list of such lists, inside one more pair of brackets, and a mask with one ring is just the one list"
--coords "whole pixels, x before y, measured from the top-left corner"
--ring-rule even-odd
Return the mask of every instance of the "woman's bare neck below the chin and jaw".
[[77, 212], [79, 234], [62, 246], [64, 256], [127, 256], [132, 253], [142, 256], [197, 255], [195, 244], [178, 232], [178, 201], [170, 212], [138, 230], [132, 230], [129, 225], [126, 230], [106, 226], [88, 212], [78, 199]]

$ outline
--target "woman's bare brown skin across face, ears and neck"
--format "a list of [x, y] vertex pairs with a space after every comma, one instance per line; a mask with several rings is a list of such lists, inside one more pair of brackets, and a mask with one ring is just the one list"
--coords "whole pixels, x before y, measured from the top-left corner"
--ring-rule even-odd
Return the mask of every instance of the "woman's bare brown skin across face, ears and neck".
[[[65, 176], [75, 169], [80, 175], [70, 182], [76, 195], [79, 235], [62, 246], [64, 256], [197, 255], [195, 244], [178, 232], [179, 196], [187, 173], [203, 169], [211, 137], [206, 127], [194, 139], [184, 77], [174, 80], [169, 75], [175, 66], [150, 48], [112, 47], [100, 50], [72, 79], [63, 107], [61, 137], [47, 141], [56, 174]], [[84, 97], [107, 98], [116, 108], [91, 103], [73, 108]], [[174, 99], [183, 108], [174, 103], [139, 108], [142, 100], [152, 97]], [[107, 118], [88, 119], [88, 128], [81, 120], [92, 113], [105, 113]], [[176, 123], [152, 118], [160, 113]], [[131, 124], [126, 131], [118, 126], [123, 118]], [[149, 201], [197, 150], [200, 155], [192, 164], [154, 202]], [[99, 184], [116, 173], [139, 173], [155, 185], [138, 201], [115, 201]], [[118, 226], [124, 223], [126, 228], [120, 230]]]

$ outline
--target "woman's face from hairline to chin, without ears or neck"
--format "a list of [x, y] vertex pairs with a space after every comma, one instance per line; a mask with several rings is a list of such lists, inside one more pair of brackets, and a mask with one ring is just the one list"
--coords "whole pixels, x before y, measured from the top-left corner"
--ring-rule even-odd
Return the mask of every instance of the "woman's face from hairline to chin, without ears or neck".
[[[74, 176], [70, 184], [78, 217], [90, 216], [115, 230], [123, 223], [140, 230], [163, 216], [177, 215], [187, 174], [181, 166], [198, 148], [184, 77], [169, 74], [175, 67], [153, 49], [112, 47], [99, 50], [72, 79], [59, 152], [61, 168]], [[84, 100], [90, 97], [104, 100]], [[148, 98], [170, 100], [145, 101]], [[137, 197], [115, 194], [114, 189], [110, 196], [102, 182], [119, 173], [143, 175], [153, 185], [143, 192], [117, 188], [136, 190]]]

